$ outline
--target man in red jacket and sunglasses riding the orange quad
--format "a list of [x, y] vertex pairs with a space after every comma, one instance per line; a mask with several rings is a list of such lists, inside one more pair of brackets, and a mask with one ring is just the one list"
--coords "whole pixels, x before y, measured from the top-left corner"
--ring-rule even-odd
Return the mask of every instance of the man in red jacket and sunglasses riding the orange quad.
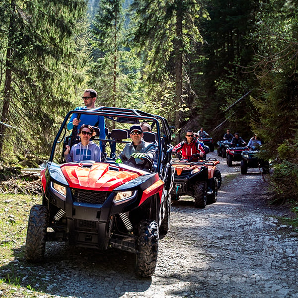
[[[182, 151], [182, 157], [185, 159], [189, 159], [193, 154], [199, 154], [200, 157], [203, 157], [205, 154], [202, 145], [194, 138], [194, 132], [192, 130], [186, 132], [185, 140], [176, 145], [172, 151]], [[198, 160], [198, 157], [193, 157], [191, 160]]]

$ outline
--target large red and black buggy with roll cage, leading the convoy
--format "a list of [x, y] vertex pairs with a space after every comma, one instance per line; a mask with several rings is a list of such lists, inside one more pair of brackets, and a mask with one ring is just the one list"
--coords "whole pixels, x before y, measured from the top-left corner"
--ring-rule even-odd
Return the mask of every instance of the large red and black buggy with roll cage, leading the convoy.
[[[77, 142], [66, 128], [73, 113], [77, 118], [80, 114], [105, 117], [106, 139], [100, 139], [98, 133], [93, 140], [102, 142], [101, 162], [65, 163], [66, 145]], [[134, 158], [129, 160], [132, 165], [116, 163], [115, 157], [131, 142], [128, 129], [144, 121], [152, 128], [152, 132], [144, 133], [144, 139], [156, 144], [154, 162], [145, 160], [148, 168], [136, 164]], [[30, 211], [27, 261], [43, 260], [46, 241], [67, 241], [78, 247], [112, 247], [135, 253], [137, 275], [151, 276], [159, 237], [169, 227], [174, 178], [170, 141], [167, 121], [157, 115], [111, 107], [69, 112], [54, 140], [46, 168], [41, 171], [42, 204]]]

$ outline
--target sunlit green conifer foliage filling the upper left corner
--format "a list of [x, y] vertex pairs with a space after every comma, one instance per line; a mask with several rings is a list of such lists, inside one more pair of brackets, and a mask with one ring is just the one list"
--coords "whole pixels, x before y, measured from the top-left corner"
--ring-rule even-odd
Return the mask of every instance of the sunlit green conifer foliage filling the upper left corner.
[[84, 81], [85, 11], [83, 0], [1, 1], [2, 160], [15, 159], [13, 152], [49, 152]]

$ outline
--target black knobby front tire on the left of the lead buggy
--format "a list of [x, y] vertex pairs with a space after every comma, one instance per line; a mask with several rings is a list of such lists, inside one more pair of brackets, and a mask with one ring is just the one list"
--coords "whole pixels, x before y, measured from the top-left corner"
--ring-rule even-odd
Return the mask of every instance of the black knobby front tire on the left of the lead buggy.
[[41, 262], [45, 255], [49, 212], [43, 205], [34, 205], [30, 210], [25, 258], [32, 263]]

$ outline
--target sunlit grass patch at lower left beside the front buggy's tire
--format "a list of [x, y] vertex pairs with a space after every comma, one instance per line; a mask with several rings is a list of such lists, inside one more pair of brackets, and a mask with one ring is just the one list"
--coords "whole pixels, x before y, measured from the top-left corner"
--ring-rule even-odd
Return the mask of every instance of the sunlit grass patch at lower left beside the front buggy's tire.
[[33, 205], [41, 201], [41, 196], [0, 194], [2, 297], [36, 297], [31, 292], [38, 277], [26, 268], [24, 252], [29, 212]]

